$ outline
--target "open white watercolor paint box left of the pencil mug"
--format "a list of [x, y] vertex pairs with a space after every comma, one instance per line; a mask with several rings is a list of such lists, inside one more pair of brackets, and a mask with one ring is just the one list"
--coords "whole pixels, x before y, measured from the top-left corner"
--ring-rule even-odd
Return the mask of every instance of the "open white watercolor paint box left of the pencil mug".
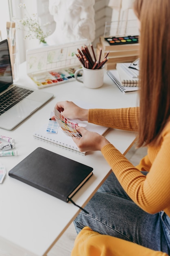
[[87, 43], [87, 40], [80, 40], [64, 45], [51, 45], [27, 50], [26, 69], [28, 76], [39, 89], [75, 80], [74, 73], [81, 68], [76, 52], [78, 47], [87, 45]]

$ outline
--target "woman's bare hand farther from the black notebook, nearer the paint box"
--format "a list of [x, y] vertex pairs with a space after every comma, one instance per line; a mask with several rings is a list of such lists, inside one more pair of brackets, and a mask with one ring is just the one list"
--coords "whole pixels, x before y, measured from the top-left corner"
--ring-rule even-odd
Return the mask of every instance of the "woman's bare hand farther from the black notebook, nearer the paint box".
[[62, 112], [64, 117], [69, 119], [79, 119], [81, 121], [88, 121], [88, 109], [80, 108], [72, 101], [57, 102], [55, 108]]

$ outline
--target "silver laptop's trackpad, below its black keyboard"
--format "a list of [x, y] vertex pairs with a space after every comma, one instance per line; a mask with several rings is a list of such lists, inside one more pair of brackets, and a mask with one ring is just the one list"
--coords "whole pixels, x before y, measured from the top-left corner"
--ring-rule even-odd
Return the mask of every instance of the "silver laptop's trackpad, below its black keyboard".
[[0, 116], [1, 127], [7, 130], [13, 129], [17, 124], [37, 110], [41, 105], [41, 102], [32, 101], [31, 99], [22, 100], [20, 103]]

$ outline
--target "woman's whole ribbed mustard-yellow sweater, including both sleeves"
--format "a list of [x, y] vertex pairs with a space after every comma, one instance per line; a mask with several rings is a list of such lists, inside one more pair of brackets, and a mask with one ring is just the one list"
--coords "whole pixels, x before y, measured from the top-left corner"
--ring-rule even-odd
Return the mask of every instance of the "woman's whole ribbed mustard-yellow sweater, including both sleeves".
[[[137, 131], [138, 116], [139, 108], [90, 109], [88, 121]], [[136, 167], [112, 144], [105, 145], [101, 152], [126, 193], [139, 207], [148, 213], [164, 210], [170, 217], [170, 122], [162, 132], [160, 145], [149, 146], [148, 155]], [[149, 173], [145, 176], [139, 170]]]

